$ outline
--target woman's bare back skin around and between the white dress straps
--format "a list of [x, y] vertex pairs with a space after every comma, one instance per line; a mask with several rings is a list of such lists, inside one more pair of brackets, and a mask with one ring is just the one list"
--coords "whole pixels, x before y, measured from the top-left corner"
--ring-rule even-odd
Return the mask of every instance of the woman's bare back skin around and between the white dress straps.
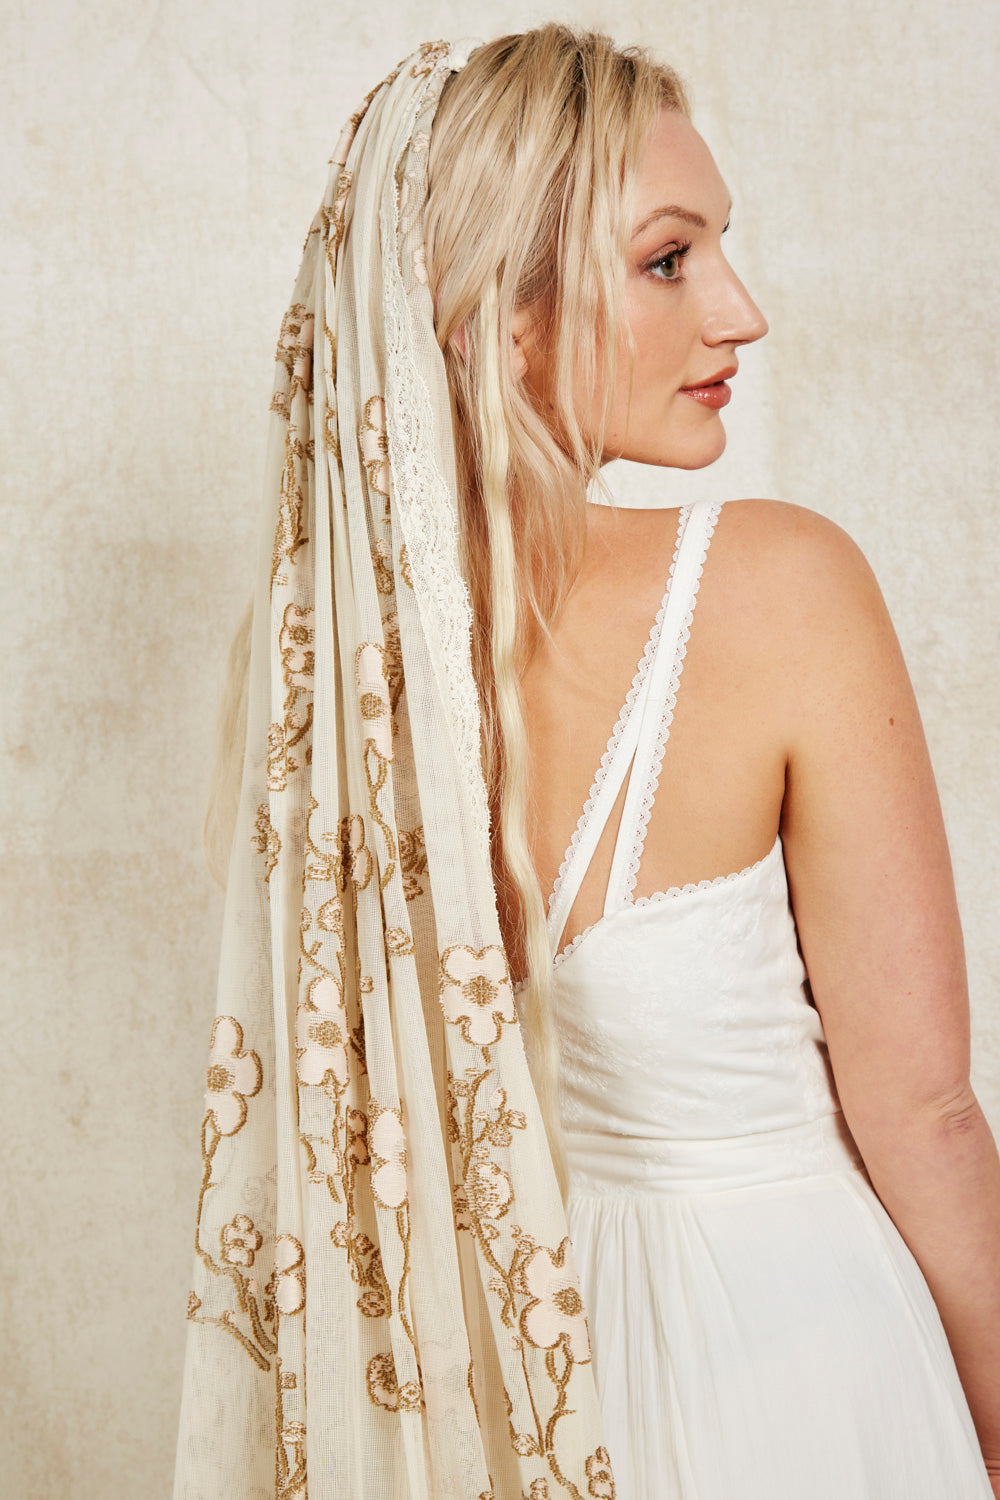
[[[721, 508], [708, 555], [637, 896], [741, 870], [778, 832], [784, 694], [775, 702], [774, 610], [754, 590], [747, 556], [760, 528], [741, 508]], [[582, 573], [552, 642], [525, 675], [529, 830], [546, 897], [664, 602], [678, 518], [678, 510], [588, 507]], [[601, 915], [624, 800], [625, 788], [568, 914], [565, 939]]]

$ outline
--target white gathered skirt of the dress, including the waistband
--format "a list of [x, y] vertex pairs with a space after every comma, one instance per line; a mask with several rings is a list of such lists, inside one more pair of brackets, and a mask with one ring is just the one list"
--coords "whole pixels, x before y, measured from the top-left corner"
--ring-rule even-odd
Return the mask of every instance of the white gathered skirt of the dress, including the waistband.
[[616, 1500], [993, 1500], [931, 1293], [838, 1118], [570, 1146]]

